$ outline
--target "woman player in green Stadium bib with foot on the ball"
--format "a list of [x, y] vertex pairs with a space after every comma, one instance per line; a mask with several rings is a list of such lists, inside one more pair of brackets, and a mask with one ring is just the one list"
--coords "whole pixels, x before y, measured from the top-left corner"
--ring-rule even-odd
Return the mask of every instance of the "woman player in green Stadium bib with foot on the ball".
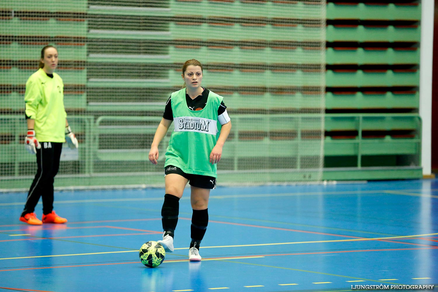
[[216, 163], [230, 134], [231, 121], [223, 97], [201, 87], [202, 65], [188, 60], [182, 69], [184, 86], [170, 95], [163, 118], [152, 141], [149, 160], [157, 164], [158, 145], [173, 122], [174, 129], [164, 166], [166, 194], [161, 209], [163, 239], [173, 252], [173, 235], [178, 222], [179, 200], [187, 183], [191, 186], [191, 243], [189, 260], [199, 261], [199, 245], [208, 225], [208, 197], [216, 187]]

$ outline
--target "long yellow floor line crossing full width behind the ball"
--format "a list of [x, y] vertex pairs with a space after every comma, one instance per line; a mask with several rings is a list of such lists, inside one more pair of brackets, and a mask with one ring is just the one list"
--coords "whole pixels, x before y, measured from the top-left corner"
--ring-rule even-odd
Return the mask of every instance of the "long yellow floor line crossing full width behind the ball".
[[[224, 246], [202, 246], [202, 248], [269, 246], [269, 245], [300, 244], [300, 243], [331, 243], [331, 242], [347, 242], [347, 241], [365, 241], [365, 240], [412, 238], [412, 237], [423, 237], [423, 236], [432, 236], [432, 235], [438, 235], [438, 233], [416, 234], [416, 235], [405, 235], [405, 236], [374, 237], [374, 238], [355, 238], [355, 239], [300, 241], [300, 242], [290, 242], [290, 243], [258, 243], [258, 244], [242, 244], [242, 245], [224, 245]], [[180, 247], [180, 248], [176, 248], [175, 250], [188, 250], [188, 247]], [[138, 250], [108, 251], [108, 252], [102, 252], [102, 253], [58, 254], [58, 255], [34, 256], [34, 257], [4, 257], [4, 258], [0, 258], [0, 260], [29, 259], [29, 258], [38, 258], [38, 257], [67, 257], [67, 256], [83, 256], [83, 255], [90, 255], [90, 254], [132, 253], [132, 252], [138, 252]]]

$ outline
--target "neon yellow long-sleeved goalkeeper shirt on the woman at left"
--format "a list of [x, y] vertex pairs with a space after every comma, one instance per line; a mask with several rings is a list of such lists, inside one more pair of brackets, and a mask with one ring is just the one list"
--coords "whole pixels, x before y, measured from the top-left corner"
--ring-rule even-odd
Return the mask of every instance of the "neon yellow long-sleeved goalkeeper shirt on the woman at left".
[[26, 116], [35, 120], [35, 137], [40, 142], [65, 142], [64, 83], [41, 68], [26, 82]]

